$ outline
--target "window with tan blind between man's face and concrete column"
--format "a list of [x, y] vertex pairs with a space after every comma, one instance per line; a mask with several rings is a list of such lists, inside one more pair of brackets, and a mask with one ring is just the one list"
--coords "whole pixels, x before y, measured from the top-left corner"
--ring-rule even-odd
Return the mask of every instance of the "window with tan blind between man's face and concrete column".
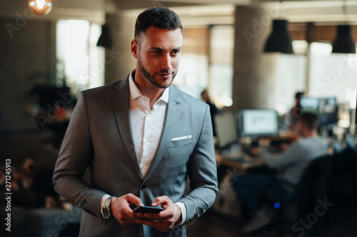
[[232, 105], [234, 27], [185, 28], [174, 85], [201, 99], [208, 88], [218, 107]]

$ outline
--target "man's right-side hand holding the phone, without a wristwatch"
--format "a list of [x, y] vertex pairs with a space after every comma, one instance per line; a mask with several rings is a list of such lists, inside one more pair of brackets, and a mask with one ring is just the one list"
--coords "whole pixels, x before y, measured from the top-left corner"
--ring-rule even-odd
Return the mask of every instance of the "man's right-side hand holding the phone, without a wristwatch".
[[159, 213], [139, 212], [137, 214], [139, 218], [136, 218], [135, 222], [151, 226], [161, 232], [169, 231], [177, 223], [181, 223], [182, 216], [179, 206], [174, 204], [167, 196], [158, 196], [151, 206], [159, 206], [160, 204], [164, 211]]

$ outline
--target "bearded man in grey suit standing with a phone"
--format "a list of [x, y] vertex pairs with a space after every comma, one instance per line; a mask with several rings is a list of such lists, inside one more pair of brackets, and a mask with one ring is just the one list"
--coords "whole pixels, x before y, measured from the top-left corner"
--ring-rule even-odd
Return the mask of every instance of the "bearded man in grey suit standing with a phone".
[[[136, 69], [79, 94], [53, 178], [84, 209], [79, 236], [186, 236], [184, 224], [216, 199], [209, 107], [171, 85], [182, 33], [174, 11], [144, 11], [131, 41]], [[90, 184], [82, 180], [88, 166]], [[137, 213], [131, 204], [164, 211]]]

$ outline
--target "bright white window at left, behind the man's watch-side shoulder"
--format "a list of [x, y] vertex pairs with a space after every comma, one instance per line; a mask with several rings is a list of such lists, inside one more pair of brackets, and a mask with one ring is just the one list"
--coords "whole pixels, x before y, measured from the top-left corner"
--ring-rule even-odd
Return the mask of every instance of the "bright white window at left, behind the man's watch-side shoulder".
[[96, 46], [101, 26], [84, 20], [60, 20], [56, 25], [56, 83], [73, 93], [104, 85], [104, 48]]

